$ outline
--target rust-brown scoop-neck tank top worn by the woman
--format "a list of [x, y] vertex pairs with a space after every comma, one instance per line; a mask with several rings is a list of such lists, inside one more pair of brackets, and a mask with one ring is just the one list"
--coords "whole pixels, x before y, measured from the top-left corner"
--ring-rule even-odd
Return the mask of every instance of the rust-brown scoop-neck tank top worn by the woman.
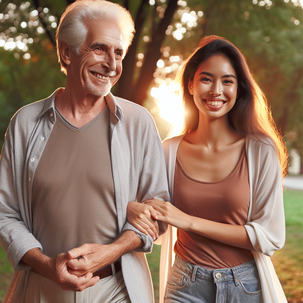
[[[246, 151], [235, 170], [221, 181], [191, 178], [178, 156], [174, 175], [174, 204], [188, 215], [211, 221], [245, 225], [250, 188]], [[250, 250], [224, 244], [191, 231], [178, 229], [175, 253], [182, 259], [209, 269], [231, 268], [253, 258]]]

